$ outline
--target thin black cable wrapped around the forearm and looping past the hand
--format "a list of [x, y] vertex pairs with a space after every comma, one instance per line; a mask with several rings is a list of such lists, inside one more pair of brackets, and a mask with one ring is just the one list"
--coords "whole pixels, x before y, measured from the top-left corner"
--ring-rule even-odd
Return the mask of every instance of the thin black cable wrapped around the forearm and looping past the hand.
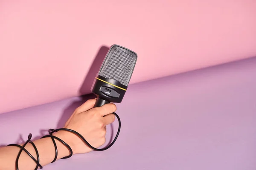
[[[119, 116], [118, 116], [116, 113], [112, 113], [112, 114], [114, 114], [114, 115], [116, 116], [116, 118], [118, 119], [118, 130], [117, 130], [117, 133], [116, 133], [116, 137], [115, 137], [114, 140], [111, 142], [111, 144], [109, 144], [108, 146], [106, 146], [106, 147], [104, 147], [104, 148], [102, 148], [102, 149], [98, 149], [98, 148], [93, 147], [92, 145], [90, 145], [90, 144], [87, 142], [87, 140], [84, 139], [84, 137], [81, 136], [81, 134], [78, 133], [78, 132], [76, 132], [75, 130], [67, 129], [67, 128], [60, 128], [60, 129], [55, 129], [55, 130], [54, 130], [54, 129], [49, 129], [49, 130], [48, 130], [49, 135], [45, 135], [45, 136], [41, 137], [41, 139], [42, 139], [42, 138], [47, 138], [47, 137], [50, 137], [50, 138], [52, 139], [52, 142], [53, 142], [53, 145], [54, 145], [54, 148], [55, 148], [55, 157], [54, 157], [54, 159], [53, 159], [52, 162], [55, 162], [56, 159], [57, 159], [57, 157], [58, 157], [58, 148], [57, 148], [55, 139], [57, 139], [59, 142], [61, 142], [62, 144], [64, 144], [64, 145], [67, 147], [67, 149], [70, 151], [70, 155], [69, 155], [69, 156], [65, 156], [65, 157], [63, 157], [63, 158], [61, 158], [61, 159], [67, 159], [67, 158], [70, 158], [70, 157], [73, 155], [73, 150], [72, 150], [72, 148], [71, 148], [66, 142], [64, 142], [62, 139], [60, 139], [60, 138], [58, 138], [58, 137], [56, 137], [56, 136], [52, 136], [52, 134], [53, 134], [54, 132], [58, 132], [58, 131], [60, 131], [60, 130], [68, 131], [68, 132], [71, 132], [71, 133], [75, 133], [77, 136], [79, 136], [79, 137], [83, 140], [83, 142], [84, 142], [85, 144], [87, 144], [87, 146], [89, 146], [89, 147], [90, 147], [91, 149], [93, 149], [93, 150], [96, 150], [96, 151], [103, 151], [103, 150], [107, 150], [108, 148], [110, 148], [110, 147], [116, 142], [116, 139], [117, 139], [117, 137], [119, 136], [119, 133], [120, 133], [120, 130], [121, 130], [121, 120], [120, 120]], [[19, 160], [19, 158], [20, 158], [20, 154], [21, 154], [22, 150], [24, 150], [24, 151], [30, 156], [30, 158], [31, 158], [33, 161], [35, 161], [35, 163], [36, 163], [35, 170], [37, 170], [38, 167], [40, 167], [40, 169], [43, 168], [42, 165], [39, 163], [39, 154], [38, 154], [38, 150], [37, 150], [37, 148], [35, 147], [35, 144], [31, 141], [31, 138], [32, 138], [32, 134], [29, 133], [28, 140], [23, 144], [23, 146], [20, 146], [20, 145], [18, 145], [18, 144], [9, 144], [9, 145], [7, 145], [7, 146], [17, 146], [17, 147], [20, 147], [20, 151], [19, 151], [19, 153], [18, 153], [18, 155], [17, 155], [17, 158], [16, 158], [16, 161], [15, 161], [16, 170], [19, 170], [19, 167], [18, 167], [18, 160]], [[36, 153], [36, 156], [37, 156], [37, 160], [25, 149], [25, 146], [26, 146], [26, 144], [28, 144], [28, 143], [31, 143], [32, 146], [34, 147], [35, 153]]]

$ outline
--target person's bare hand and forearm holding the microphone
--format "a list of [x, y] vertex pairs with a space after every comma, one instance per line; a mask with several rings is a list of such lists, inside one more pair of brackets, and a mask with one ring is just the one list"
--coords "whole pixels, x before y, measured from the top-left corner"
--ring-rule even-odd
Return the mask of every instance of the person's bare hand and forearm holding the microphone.
[[[96, 99], [90, 99], [73, 112], [67, 120], [64, 128], [75, 130], [80, 133], [93, 147], [100, 147], [105, 143], [106, 125], [111, 124], [115, 120], [115, 116], [111, 113], [116, 111], [116, 105], [113, 103], [105, 104], [101, 107], [93, 108]], [[103, 117], [104, 116], [104, 117]], [[76, 134], [68, 131], [58, 131], [53, 133], [66, 142], [73, 150], [73, 154], [88, 153], [92, 151]], [[47, 137], [33, 141], [38, 149], [40, 156], [40, 164], [45, 166], [52, 162], [55, 157], [55, 149], [52, 139]], [[70, 154], [67, 147], [55, 140], [58, 148], [58, 159]], [[26, 150], [36, 158], [35, 149], [32, 144], [28, 143]], [[15, 146], [0, 147], [0, 170], [15, 170], [15, 160], [20, 148]], [[22, 151], [19, 161], [19, 170], [34, 170], [36, 163]]]

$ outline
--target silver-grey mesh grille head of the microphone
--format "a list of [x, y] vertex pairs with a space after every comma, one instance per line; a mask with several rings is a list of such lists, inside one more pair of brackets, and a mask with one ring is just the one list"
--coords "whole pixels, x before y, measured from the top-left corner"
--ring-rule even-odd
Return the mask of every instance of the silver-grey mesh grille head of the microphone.
[[137, 54], [119, 45], [113, 45], [99, 71], [99, 75], [107, 79], [114, 79], [122, 85], [128, 86], [131, 79]]

